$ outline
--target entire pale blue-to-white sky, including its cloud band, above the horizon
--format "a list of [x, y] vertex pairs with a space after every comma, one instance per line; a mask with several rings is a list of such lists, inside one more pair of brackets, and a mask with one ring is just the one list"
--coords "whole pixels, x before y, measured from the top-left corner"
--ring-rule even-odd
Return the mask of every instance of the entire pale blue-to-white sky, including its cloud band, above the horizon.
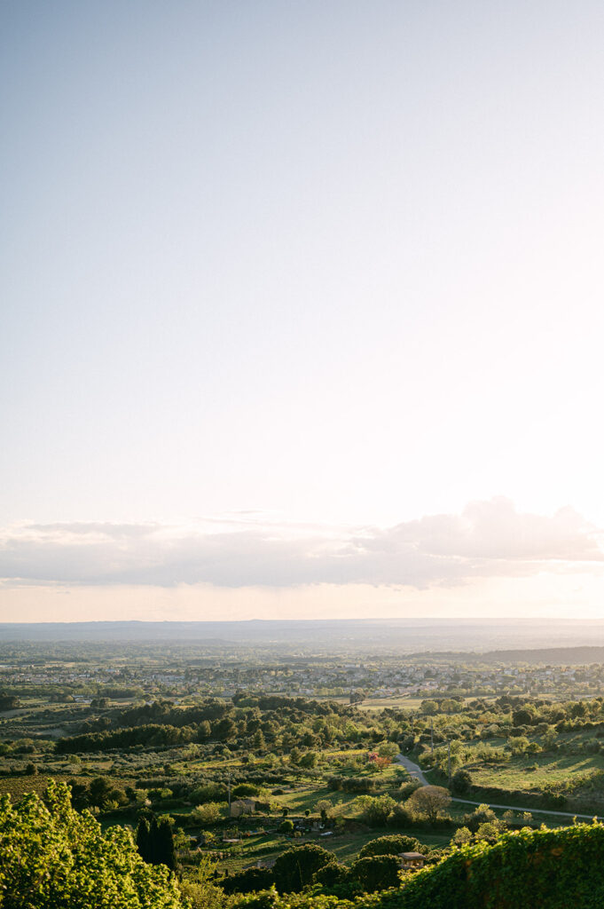
[[603, 41], [5, 0], [0, 618], [599, 616]]

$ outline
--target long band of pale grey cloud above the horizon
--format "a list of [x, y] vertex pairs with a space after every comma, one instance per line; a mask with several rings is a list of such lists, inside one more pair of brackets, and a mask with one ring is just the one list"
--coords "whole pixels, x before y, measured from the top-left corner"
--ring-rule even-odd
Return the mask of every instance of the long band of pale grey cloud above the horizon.
[[242, 523], [22, 524], [0, 534], [7, 584], [464, 584], [604, 562], [600, 534], [572, 508], [522, 514], [506, 498], [390, 528]]

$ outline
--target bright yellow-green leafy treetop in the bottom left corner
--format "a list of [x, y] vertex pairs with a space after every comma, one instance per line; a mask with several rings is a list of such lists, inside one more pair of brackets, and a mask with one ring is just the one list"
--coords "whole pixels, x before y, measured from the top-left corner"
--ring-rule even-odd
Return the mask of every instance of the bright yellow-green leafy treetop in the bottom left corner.
[[51, 783], [44, 801], [0, 798], [2, 909], [184, 909], [167, 868], [145, 864], [122, 827], [105, 833]]

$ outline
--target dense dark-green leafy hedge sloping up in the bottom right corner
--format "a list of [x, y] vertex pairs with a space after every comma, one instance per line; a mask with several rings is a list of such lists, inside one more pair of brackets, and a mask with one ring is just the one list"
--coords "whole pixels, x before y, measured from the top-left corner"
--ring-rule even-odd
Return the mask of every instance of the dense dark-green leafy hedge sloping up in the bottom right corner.
[[440, 864], [402, 875], [401, 888], [354, 901], [325, 894], [244, 897], [240, 909], [601, 909], [604, 826], [507, 834], [462, 846]]

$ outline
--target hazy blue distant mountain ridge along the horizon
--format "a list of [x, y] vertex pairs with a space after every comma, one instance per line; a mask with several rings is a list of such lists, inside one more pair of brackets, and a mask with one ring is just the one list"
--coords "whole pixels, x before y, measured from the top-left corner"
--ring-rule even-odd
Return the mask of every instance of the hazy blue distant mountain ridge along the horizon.
[[[583, 648], [583, 662], [604, 658], [604, 622], [565, 619], [326, 619], [234, 622], [77, 622], [0, 624], [0, 643], [199, 642], [205, 647], [296, 644], [324, 651], [394, 651], [401, 654], [481, 654], [483, 659], [566, 662]], [[557, 651], [555, 653], [554, 651]], [[521, 655], [520, 655], [520, 652]], [[575, 658], [579, 654], [575, 654]]]

